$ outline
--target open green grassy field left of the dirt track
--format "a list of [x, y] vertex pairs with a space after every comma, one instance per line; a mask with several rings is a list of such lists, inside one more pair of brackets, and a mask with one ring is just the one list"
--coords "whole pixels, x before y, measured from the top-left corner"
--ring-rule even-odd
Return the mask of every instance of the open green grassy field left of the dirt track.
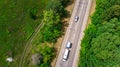
[[[0, 67], [17, 67], [48, 0], [0, 0]], [[6, 58], [12, 56], [12, 63]]]

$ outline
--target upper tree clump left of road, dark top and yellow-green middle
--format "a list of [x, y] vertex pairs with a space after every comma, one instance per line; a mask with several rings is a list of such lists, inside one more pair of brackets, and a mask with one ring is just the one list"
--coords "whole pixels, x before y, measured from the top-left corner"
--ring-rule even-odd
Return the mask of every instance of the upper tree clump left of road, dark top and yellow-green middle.
[[46, 10], [43, 12], [42, 22], [44, 23], [40, 34], [41, 42], [56, 42], [57, 38], [62, 34], [61, 18], [67, 15], [60, 0], [53, 0], [47, 4]]

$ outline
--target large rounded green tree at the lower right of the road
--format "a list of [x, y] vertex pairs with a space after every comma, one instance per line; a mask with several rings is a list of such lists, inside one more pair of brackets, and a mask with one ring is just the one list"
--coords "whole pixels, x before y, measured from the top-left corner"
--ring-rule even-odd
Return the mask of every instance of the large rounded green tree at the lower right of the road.
[[90, 51], [94, 55], [94, 57], [99, 59], [99, 61], [93, 62], [93, 64], [103, 62], [100, 63], [100, 65], [106, 67], [108, 64], [115, 65], [114, 63], [120, 62], [118, 59], [115, 59], [119, 57], [118, 55], [116, 55], [116, 49], [120, 49], [119, 41], [119, 36], [107, 32], [102, 33], [97, 38], [94, 38], [91, 42], [92, 46], [90, 48]]

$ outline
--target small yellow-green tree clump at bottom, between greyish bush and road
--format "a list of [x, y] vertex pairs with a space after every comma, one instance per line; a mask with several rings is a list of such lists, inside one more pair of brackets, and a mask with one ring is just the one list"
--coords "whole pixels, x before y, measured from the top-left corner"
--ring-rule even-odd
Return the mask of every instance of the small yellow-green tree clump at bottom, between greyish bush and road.
[[42, 59], [42, 62], [39, 63], [38, 66], [40, 66], [40, 67], [50, 67], [51, 60], [55, 56], [54, 48], [44, 45], [44, 46], [39, 48], [39, 51], [42, 54], [43, 59]]

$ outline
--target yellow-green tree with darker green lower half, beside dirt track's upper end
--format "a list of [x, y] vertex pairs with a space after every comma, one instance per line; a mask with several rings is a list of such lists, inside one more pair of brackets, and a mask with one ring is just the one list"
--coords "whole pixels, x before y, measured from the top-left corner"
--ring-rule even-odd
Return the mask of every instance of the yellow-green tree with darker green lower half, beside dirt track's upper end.
[[41, 41], [56, 42], [57, 38], [62, 34], [62, 23], [60, 16], [53, 10], [44, 11], [44, 26], [41, 31]]

